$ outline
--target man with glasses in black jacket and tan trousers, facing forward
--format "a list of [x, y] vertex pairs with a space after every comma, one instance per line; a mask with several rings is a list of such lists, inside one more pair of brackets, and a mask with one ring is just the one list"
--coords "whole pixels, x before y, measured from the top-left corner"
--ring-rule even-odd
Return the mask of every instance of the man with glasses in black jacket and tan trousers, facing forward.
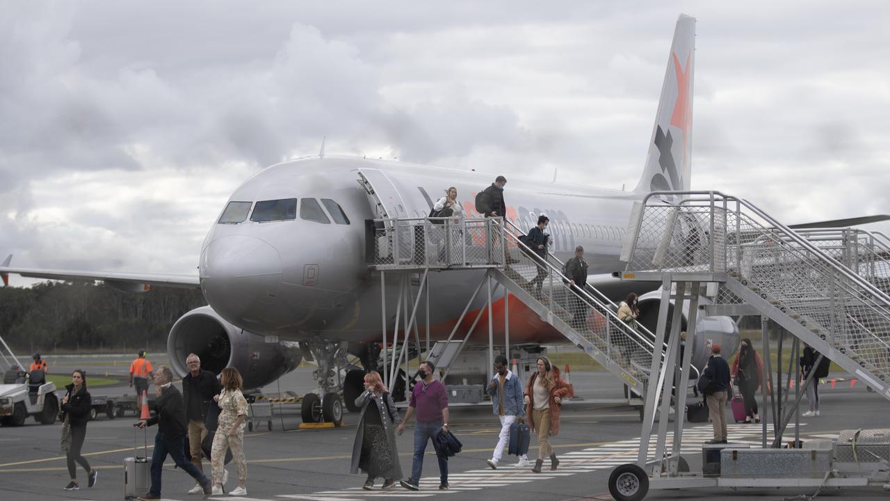
[[[214, 396], [218, 395], [223, 388], [214, 373], [201, 369], [201, 359], [198, 355], [190, 353], [185, 358], [185, 365], [189, 369], [189, 374], [185, 374], [185, 377], [182, 378], [182, 401], [185, 403], [185, 417], [189, 422], [189, 454], [191, 463], [203, 473], [201, 444], [207, 436], [205, 425], [207, 408], [214, 403]], [[223, 473], [223, 486], [228, 480], [228, 476], [229, 472]], [[199, 484], [195, 484], [189, 494], [201, 494], [202, 492], [204, 489]]]

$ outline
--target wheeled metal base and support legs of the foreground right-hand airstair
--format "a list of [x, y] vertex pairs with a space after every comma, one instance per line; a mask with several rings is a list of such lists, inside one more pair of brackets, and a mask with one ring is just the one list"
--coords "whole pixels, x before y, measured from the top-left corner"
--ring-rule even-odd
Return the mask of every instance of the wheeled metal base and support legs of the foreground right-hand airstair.
[[[700, 283], [676, 283], [676, 294], [671, 292], [670, 277], [667, 275], [662, 283], [662, 303], [659, 310], [659, 328], [656, 333], [655, 346], [665, 341], [667, 304], [676, 299], [682, 307], [684, 300], [690, 301], [687, 335], [692, 336], [695, 328], [695, 316], [698, 310], [698, 292]], [[681, 382], [680, 388], [687, 385], [686, 370], [692, 362], [692, 350], [686, 349], [684, 359], [679, 356], [680, 315], [684, 308], [674, 308], [671, 333], [667, 339], [665, 362], [661, 357], [652, 357], [652, 372], [658, 374], [658, 384], [651, 387], [646, 395], [646, 407], [643, 414], [643, 432], [640, 437], [640, 449], [637, 462], [622, 464], [612, 471], [609, 478], [609, 490], [617, 501], [639, 501], [650, 489], [693, 489], [693, 488], [791, 488], [791, 489], [840, 489], [853, 487], [885, 486], [890, 489], [890, 429], [849, 430], [841, 431], [837, 442], [830, 440], [813, 440], [803, 444], [797, 439], [794, 448], [780, 448], [781, 434], [791, 419], [799, 413], [798, 405], [805, 388], [813, 377], [811, 374], [803, 384], [797, 385], [797, 398], [793, 407], [786, 415], [782, 415], [781, 393], [773, 392], [773, 426], [775, 439], [773, 448], [767, 448], [767, 420], [769, 414], [763, 414], [763, 448], [752, 448], [748, 444], [713, 444], [702, 448], [702, 471], [690, 472], [685, 459], [680, 456], [683, 440], [685, 413], [674, 414], [673, 439], [667, 443], [668, 412], [672, 405], [671, 374]], [[753, 314], [753, 313], [752, 313]], [[761, 316], [765, 341], [765, 366], [763, 381], [773, 382], [772, 367], [769, 355], [768, 336], [766, 331], [767, 317]], [[799, 349], [799, 340], [795, 340], [793, 350]], [[792, 356], [792, 359], [796, 357]], [[781, 344], [779, 345], [781, 360]], [[780, 378], [778, 388], [781, 392], [781, 366], [777, 376]], [[799, 374], [799, 365], [797, 365]], [[789, 374], [791, 374], [789, 367]], [[655, 380], [653, 380], [655, 382]], [[762, 385], [765, 388], [767, 385]], [[788, 387], [785, 387], [788, 390]], [[767, 407], [765, 390], [764, 410]], [[787, 398], [787, 397], [786, 397]], [[678, 392], [673, 402], [677, 409], [686, 405], [685, 392]], [[778, 425], [777, 425], [778, 424]], [[657, 437], [654, 456], [650, 455], [650, 439]], [[801, 448], [803, 447], [803, 448]]]

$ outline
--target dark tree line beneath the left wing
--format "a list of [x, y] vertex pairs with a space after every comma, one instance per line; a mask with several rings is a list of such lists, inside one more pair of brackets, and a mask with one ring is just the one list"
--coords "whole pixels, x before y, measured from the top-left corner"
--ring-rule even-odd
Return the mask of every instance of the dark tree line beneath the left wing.
[[198, 290], [120, 292], [105, 284], [45, 282], [0, 288], [0, 336], [16, 352], [166, 349], [174, 322], [206, 305]]

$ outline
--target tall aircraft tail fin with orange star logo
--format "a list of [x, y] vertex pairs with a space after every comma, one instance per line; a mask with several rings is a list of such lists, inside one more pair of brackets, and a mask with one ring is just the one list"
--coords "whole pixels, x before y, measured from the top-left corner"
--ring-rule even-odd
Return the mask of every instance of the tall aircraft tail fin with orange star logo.
[[690, 189], [694, 68], [695, 18], [680, 14], [667, 57], [667, 71], [646, 155], [646, 168], [635, 192]]

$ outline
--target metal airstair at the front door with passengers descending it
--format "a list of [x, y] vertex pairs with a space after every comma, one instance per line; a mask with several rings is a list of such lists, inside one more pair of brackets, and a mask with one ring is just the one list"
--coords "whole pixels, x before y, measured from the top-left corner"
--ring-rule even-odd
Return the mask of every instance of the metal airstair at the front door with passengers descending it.
[[[373, 237], [368, 239], [373, 242], [368, 246], [368, 265], [380, 273], [381, 287], [385, 286], [386, 280], [392, 280], [389, 275], [396, 275], [404, 288], [405, 274], [414, 275], [411, 280], [417, 285], [417, 294], [406, 290], [398, 299], [396, 324], [401, 316], [401, 331], [408, 335], [399, 340], [399, 329], [394, 329], [394, 339], [390, 339], [396, 345], [400, 341], [407, 344], [412, 332], [415, 342], [421, 344], [420, 333], [417, 333], [417, 308], [422, 292], [428, 288], [430, 272], [484, 270], [445, 343], [456, 340], [458, 326], [486, 282], [489, 283], [486, 301], [489, 313], [492, 294], [498, 287], [504, 287], [509, 292], [506, 300], [521, 300], [625, 384], [629, 388], [628, 402], [640, 407], [642, 417], [642, 398], [649, 385], [653, 353], [663, 357], [664, 343], [654, 344], [655, 334], [642, 324], [620, 321], [616, 314], [618, 307], [595, 288], [572, 286], [562, 275], [562, 262], [552, 254], [546, 259], [538, 257], [522, 243], [522, 232], [518, 228], [509, 222], [505, 224], [502, 218], [384, 218], [375, 220], [373, 228]], [[538, 281], [540, 286], [536, 286], [534, 279], [539, 275], [543, 278]], [[468, 285], [472, 287], [473, 283]], [[382, 296], [385, 298], [383, 293]], [[411, 308], [412, 304], [414, 308]], [[386, 311], [385, 304], [383, 308]], [[457, 341], [469, 339], [485, 311], [486, 308], [478, 311], [471, 328], [462, 340], [457, 337]], [[508, 336], [508, 319], [505, 324]], [[387, 330], [384, 325], [384, 345]], [[653, 349], [653, 346], [662, 349]], [[506, 350], [509, 352], [509, 347]], [[400, 352], [405, 351], [400, 349]], [[450, 358], [457, 354], [459, 349], [457, 353], [452, 352]], [[388, 360], [384, 353], [384, 365], [387, 366], [384, 371], [390, 376], [396, 374], [394, 367], [403, 362], [403, 358], [396, 357], [394, 352], [392, 360]], [[694, 369], [692, 371], [697, 374]]]

